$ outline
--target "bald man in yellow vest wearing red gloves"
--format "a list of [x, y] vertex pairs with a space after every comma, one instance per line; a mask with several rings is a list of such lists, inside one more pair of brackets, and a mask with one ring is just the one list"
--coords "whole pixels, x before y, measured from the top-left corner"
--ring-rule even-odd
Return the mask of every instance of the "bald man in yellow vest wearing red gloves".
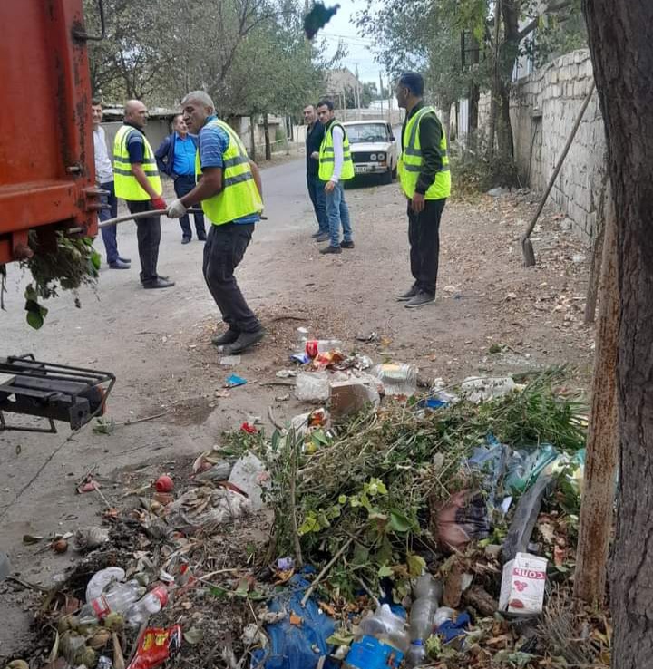
[[[161, 178], [154, 160], [154, 151], [145, 137], [147, 107], [140, 100], [125, 104], [124, 120], [113, 141], [113, 175], [116, 197], [122, 198], [130, 213], [151, 209], [165, 211], [161, 198]], [[152, 215], [136, 220], [141, 284], [143, 288], [168, 288], [173, 281], [157, 274], [159, 244], [161, 243], [161, 216]]]

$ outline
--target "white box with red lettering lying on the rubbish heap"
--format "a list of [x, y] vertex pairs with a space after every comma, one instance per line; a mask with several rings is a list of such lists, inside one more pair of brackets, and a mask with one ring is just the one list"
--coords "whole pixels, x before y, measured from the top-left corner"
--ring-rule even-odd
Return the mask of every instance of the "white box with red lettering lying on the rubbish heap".
[[541, 614], [546, 586], [545, 557], [517, 553], [503, 566], [499, 610], [521, 616]]

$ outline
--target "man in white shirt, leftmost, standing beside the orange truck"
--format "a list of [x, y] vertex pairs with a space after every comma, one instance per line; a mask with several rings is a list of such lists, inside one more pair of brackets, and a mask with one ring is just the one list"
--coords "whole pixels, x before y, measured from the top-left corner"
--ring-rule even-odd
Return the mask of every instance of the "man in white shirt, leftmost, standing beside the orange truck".
[[[115, 197], [113, 188], [113, 170], [112, 161], [109, 158], [109, 151], [106, 148], [106, 135], [102, 128], [102, 101], [99, 98], [93, 98], [91, 101], [91, 118], [93, 121], [93, 150], [95, 154], [95, 182], [102, 190], [106, 190], [108, 195], [102, 195], [100, 202], [103, 205], [98, 211], [100, 222], [116, 218], [118, 216], [118, 200]], [[112, 269], [129, 269], [130, 259], [121, 257], [118, 253], [118, 238], [115, 225], [107, 228], [100, 228], [102, 231], [102, 241], [106, 251], [107, 263]]]

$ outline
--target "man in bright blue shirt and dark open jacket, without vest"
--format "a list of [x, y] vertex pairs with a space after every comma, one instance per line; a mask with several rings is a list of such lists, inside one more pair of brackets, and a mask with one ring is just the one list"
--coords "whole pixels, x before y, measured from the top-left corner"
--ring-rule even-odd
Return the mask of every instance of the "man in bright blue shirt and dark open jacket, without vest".
[[[176, 114], [172, 119], [172, 133], [161, 141], [156, 150], [155, 158], [159, 171], [167, 174], [174, 182], [178, 198], [190, 193], [195, 188], [195, 153], [197, 152], [197, 136], [191, 135], [183, 120], [183, 114]], [[204, 214], [201, 211], [193, 214], [195, 231], [200, 241], [206, 241]], [[181, 244], [188, 244], [192, 238], [188, 214], [180, 218]]]

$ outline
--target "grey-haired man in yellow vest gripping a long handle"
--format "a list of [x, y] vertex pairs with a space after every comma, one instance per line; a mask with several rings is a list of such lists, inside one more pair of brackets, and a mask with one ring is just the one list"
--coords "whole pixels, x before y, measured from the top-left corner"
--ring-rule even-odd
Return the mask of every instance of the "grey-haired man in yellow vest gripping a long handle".
[[181, 218], [188, 208], [201, 202], [210, 223], [202, 271], [228, 325], [211, 343], [225, 354], [239, 354], [265, 335], [234, 276], [263, 211], [260, 175], [238, 133], [216, 117], [215, 105], [206, 92], [190, 92], [181, 106], [189, 131], [198, 135], [197, 186], [172, 202], [168, 216]]

